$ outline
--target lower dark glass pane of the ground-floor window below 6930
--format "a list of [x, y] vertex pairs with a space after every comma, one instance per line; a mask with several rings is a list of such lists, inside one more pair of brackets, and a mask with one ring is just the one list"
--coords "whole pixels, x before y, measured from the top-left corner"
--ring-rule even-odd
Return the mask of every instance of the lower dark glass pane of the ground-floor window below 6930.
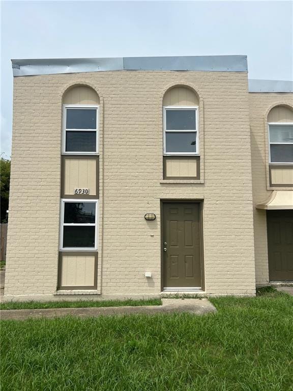
[[63, 227], [63, 247], [95, 247], [95, 227]]

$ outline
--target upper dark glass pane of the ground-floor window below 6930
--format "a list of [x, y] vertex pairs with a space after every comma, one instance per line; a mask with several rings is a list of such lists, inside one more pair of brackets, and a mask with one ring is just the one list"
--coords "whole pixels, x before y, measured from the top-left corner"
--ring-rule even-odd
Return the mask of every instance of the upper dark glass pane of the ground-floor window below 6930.
[[96, 203], [95, 202], [65, 202], [64, 222], [76, 224], [95, 223]]

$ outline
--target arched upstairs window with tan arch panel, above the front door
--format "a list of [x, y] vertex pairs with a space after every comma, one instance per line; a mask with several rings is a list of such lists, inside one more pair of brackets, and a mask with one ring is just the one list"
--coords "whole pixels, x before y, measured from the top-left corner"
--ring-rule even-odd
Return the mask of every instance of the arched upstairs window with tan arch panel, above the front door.
[[169, 89], [163, 98], [164, 155], [199, 155], [198, 97], [186, 86]]

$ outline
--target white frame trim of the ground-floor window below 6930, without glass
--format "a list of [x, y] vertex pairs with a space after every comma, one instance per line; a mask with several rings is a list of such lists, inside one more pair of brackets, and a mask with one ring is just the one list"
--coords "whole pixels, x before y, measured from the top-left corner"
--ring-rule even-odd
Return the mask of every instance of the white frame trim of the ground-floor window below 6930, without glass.
[[[95, 203], [96, 204], [96, 219], [95, 219], [95, 223], [89, 223], [89, 224], [75, 224], [75, 223], [65, 223], [64, 224], [64, 204], [66, 202], [73, 202], [73, 203], [81, 203], [81, 202], [91, 202], [91, 203]], [[65, 199], [62, 199], [61, 200], [61, 218], [60, 218], [60, 250], [61, 251], [96, 251], [98, 250], [98, 229], [99, 229], [99, 200], [84, 200], [84, 199], [68, 199], [68, 198], [65, 198]], [[74, 226], [78, 226], [78, 227], [95, 227], [95, 247], [63, 247], [63, 227], [66, 226], [70, 226], [70, 227], [74, 227]]]

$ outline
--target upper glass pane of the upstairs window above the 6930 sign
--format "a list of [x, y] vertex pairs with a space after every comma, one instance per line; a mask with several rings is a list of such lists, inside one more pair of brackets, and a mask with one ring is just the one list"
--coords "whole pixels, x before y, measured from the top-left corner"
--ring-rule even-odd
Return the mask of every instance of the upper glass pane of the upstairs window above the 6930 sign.
[[96, 108], [67, 108], [66, 129], [96, 129]]

